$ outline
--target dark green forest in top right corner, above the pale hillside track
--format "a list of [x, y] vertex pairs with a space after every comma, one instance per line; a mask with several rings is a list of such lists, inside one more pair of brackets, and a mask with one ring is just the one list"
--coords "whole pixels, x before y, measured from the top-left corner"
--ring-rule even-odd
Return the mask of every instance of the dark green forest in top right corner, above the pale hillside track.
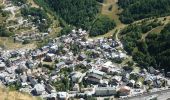
[[170, 0], [118, 0], [123, 8], [120, 20], [129, 24], [148, 17], [170, 15]]

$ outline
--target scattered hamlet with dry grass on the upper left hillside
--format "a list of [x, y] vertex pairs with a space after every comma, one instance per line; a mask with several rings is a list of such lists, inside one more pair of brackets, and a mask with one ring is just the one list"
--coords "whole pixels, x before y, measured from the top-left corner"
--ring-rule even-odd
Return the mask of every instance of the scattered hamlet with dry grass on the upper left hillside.
[[[50, 28], [46, 32], [41, 32], [40, 29], [38, 29], [40, 24], [47, 23], [46, 19], [36, 19], [36, 17], [32, 15], [28, 15], [27, 17], [23, 16], [21, 10], [29, 8], [29, 4], [20, 4], [19, 2], [16, 5], [13, 4], [11, 0], [3, 0], [3, 5], [2, 11], [8, 14], [8, 18], [5, 21], [7, 24], [6, 28], [15, 33], [12, 36], [14, 43], [28, 44], [31, 41], [41, 41], [51, 32]], [[37, 22], [34, 20], [37, 20]]]

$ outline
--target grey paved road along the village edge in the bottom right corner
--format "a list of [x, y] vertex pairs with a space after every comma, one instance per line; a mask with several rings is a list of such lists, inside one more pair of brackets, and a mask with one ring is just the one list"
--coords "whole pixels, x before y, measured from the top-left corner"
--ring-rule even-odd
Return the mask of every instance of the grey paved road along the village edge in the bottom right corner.
[[170, 98], [170, 89], [157, 91], [153, 93], [146, 93], [139, 96], [129, 97], [121, 100], [150, 100], [151, 97], [156, 96], [158, 100], [167, 100]]

